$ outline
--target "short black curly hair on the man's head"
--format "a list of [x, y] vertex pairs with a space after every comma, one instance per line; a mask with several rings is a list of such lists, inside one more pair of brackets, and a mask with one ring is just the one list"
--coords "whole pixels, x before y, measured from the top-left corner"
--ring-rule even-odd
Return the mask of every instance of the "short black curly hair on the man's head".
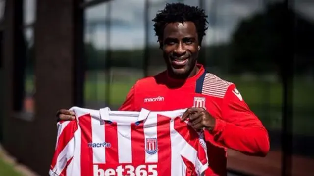
[[190, 21], [196, 26], [199, 45], [201, 45], [208, 28], [207, 15], [203, 9], [183, 3], [167, 3], [166, 7], [158, 12], [159, 13], [157, 13], [156, 17], [152, 20], [155, 22], [154, 30], [158, 41], [163, 37], [163, 31], [167, 24]]

